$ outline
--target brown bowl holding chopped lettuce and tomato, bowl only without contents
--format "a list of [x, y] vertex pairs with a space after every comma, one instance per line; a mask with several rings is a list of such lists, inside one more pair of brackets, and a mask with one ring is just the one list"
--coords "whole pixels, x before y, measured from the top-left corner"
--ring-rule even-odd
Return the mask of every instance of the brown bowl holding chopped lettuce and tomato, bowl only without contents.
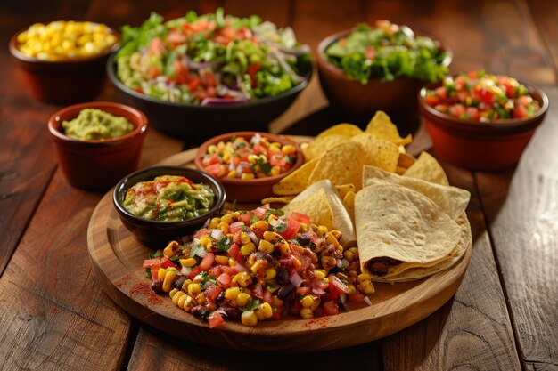
[[[390, 115], [401, 111], [416, 110], [416, 94], [424, 84], [423, 80], [397, 77], [393, 81], [370, 78], [366, 85], [347, 77], [345, 73], [330, 63], [325, 50], [341, 37], [348, 36], [352, 29], [346, 29], [320, 42], [317, 48], [317, 70], [322, 90], [334, 109], [341, 111], [343, 117], [357, 123], [367, 123], [377, 110]], [[447, 52], [443, 64], [449, 66], [452, 53]]]

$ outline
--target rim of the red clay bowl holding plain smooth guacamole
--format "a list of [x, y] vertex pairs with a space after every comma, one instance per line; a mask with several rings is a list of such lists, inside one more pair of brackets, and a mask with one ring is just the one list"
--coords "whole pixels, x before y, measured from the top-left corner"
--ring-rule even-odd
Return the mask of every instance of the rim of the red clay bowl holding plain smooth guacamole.
[[[103, 139], [103, 140], [84, 140], [78, 138], [71, 138], [68, 135], [62, 133], [60, 130], [57, 129], [57, 123], [62, 125], [62, 118], [61, 116], [69, 111], [81, 111], [82, 109], [100, 109], [103, 110], [104, 107], [111, 107], [112, 109], [117, 109], [120, 111], [127, 111], [133, 114], [135, 117], [138, 117], [136, 120], [129, 120], [132, 124], [135, 125], [135, 128], [130, 133], [125, 135], [119, 136], [117, 138], [110, 138], [110, 139]], [[106, 112], [106, 111], [105, 111]], [[110, 112], [108, 112], [110, 113]], [[114, 116], [119, 116], [118, 114], [112, 114]], [[86, 145], [96, 145], [96, 144], [103, 144], [106, 146], [114, 146], [124, 141], [129, 141], [133, 139], [136, 135], [141, 135], [147, 133], [148, 128], [148, 119], [145, 116], [144, 112], [139, 109], [135, 109], [134, 107], [127, 106], [126, 104], [118, 103], [115, 101], [88, 101], [84, 103], [72, 104], [70, 106], [66, 106], [62, 109], [57, 110], [53, 113], [53, 115], [48, 119], [48, 130], [49, 133], [53, 137], [55, 137], [58, 141], [74, 143], [78, 144], [86, 144]]]

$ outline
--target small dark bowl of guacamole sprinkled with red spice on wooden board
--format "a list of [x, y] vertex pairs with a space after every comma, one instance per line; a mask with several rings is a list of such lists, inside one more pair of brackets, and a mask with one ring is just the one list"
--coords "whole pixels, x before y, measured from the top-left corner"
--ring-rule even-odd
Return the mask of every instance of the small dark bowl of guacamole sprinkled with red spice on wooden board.
[[117, 183], [112, 201], [120, 221], [145, 246], [160, 248], [199, 230], [225, 202], [223, 185], [208, 173], [157, 166]]

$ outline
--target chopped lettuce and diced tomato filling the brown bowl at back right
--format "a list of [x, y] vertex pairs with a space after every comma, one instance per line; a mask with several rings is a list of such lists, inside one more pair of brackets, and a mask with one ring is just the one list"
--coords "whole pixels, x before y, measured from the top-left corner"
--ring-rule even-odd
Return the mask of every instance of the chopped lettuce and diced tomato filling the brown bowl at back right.
[[431, 82], [447, 74], [447, 52], [428, 36], [414, 36], [411, 28], [389, 20], [376, 27], [360, 24], [324, 51], [326, 59], [347, 77], [366, 85], [370, 78], [392, 81], [411, 77]]

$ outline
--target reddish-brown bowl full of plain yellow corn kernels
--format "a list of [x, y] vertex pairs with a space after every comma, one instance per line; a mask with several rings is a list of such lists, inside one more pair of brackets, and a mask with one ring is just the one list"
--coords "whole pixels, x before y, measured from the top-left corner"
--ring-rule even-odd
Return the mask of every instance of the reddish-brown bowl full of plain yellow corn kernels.
[[40, 101], [92, 101], [106, 81], [106, 61], [119, 33], [102, 23], [57, 20], [36, 23], [10, 39], [10, 52]]

